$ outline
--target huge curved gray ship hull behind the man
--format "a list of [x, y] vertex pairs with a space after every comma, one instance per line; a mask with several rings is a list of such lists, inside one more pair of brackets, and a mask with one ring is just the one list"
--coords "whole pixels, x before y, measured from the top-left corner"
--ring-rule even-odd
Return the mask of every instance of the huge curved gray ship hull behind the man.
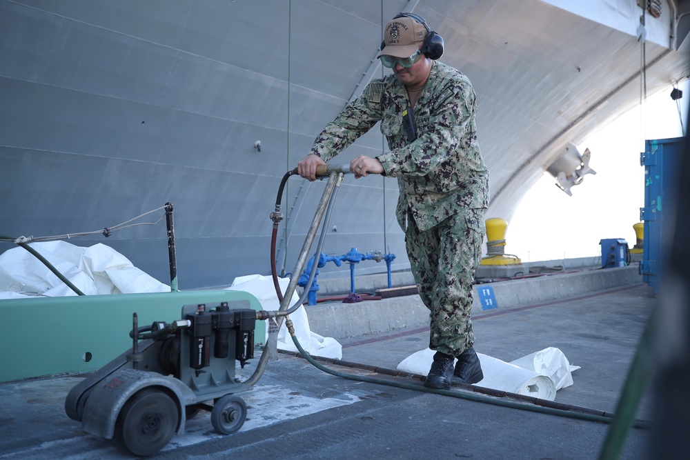
[[[562, 146], [639, 103], [640, 78], [651, 93], [688, 74], [682, 49], [648, 40], [641, 69], [634, 36], [550, 3], [0, 0], [0, 234], [98, 230], [170, 202], [180, 289], [268, 274], [280, 179], [382, 74], [382, 24], [401, 10], [426, 17], [445, 39], [442, 61], [473, 81], [489, 214], [509, 220]], [[679, 23], [675, 48], [686, 33]], [[337, 162], [384, 148], [375, 129]], [[280, 271], [294, 266], [323, 188], [288, 182]], [[380, 250], [408, 268], [396, 201], [393, 179], [346, 177], [324, 252]], [[164, 221], [72, 242], [106, 243], [169, 279]]]

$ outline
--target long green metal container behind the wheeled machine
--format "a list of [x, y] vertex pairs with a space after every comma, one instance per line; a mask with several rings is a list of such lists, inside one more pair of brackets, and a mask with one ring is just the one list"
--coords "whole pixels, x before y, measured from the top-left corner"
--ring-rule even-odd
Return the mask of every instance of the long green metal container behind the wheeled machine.
[[[147, 326], [181, 319], [188, 304], [224, 301], [262, 310], [256, 297], [236, 290], [0, 300], [0, 382], [92, 372], [132, 348], [132, 313]], [[266, 343], [264, 321], [254, 340]]]

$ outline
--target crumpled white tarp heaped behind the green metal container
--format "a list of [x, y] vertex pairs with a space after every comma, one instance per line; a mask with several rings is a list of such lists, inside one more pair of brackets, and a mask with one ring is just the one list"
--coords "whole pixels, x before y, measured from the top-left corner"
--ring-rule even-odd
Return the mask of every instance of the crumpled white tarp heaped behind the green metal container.
[[[170, 292], [167, 286], [139, 270], [119, 252], [97, 243], [89, 248], [66, 241], [30, 243], [66, 279], [86, 295]], [[24, 248], [0, 254], [0, 299], [27, 295], [77, 295], [39, 259]]]

